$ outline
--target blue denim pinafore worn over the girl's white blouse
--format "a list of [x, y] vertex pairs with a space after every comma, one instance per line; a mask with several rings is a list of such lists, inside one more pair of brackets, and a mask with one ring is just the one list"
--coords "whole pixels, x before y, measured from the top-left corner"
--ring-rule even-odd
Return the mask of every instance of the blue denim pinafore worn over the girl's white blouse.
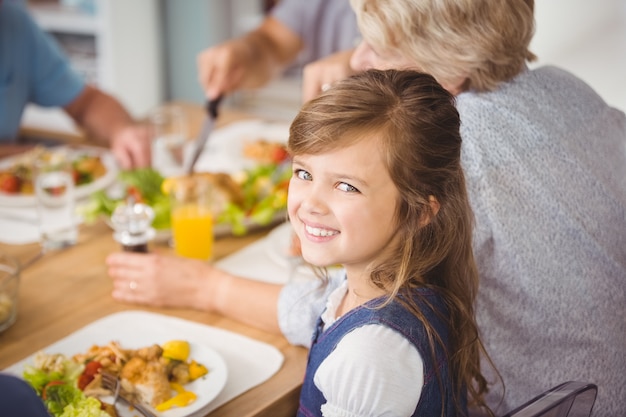
[[[415, 301], [444, 344], [448, 343], [448, 329], [446, 323], [443, 322], [437, 314], [429, 307], [420, 297], [426, 298], [434, 309], [446, 315], [447, 309], [440, 296], [428, 289], [416, 290]], [[317, 389], [313, 382], [313, 377], [317, 368], [324, 359], [335, 349], [339, 341], [350, 331], [366, 324], [381, 324], [401, 333], [409, 340], [419, 351], [424, 363], [424, 386], [417, 407], [413, 412], [413, 416], [440, 416], [442, 404], [445, 407], [446, 417], [457, 415], [454, 405], [453, 391], [454, 386], [450, 379], [448, 361], [445, 352], [440, 346], [436, 346], [436, 360], [433, 362], [431, 357], [430, 346], [426, 337], [426, 330], [421, 321], [419, 321], [412, 313], [406, 310], [400, 303], [393, 301], [382, 308], [372, 308], [380, 305], [383, 299], [378, 298], [350, 311], [341, 317], [326, 331], [322, 331], [324, 323], [321, 318], [318, 319], [317, 328], [313, 335], [311, 349], [307, 363], [306, 374], [302, 391], [300, 393], [300, 406], [298, 408], [298, 416], [312, 417], [322, 416], [321, 406], [326, 403], [326, 398], [322, 392]], [[444, 392], [440, 390], [439, 379], [437, 378], [436, 369], [440, 373], [440, 378]], [[410, 387], [407, 387], [407, 390]], [[442, 398], [444, 401], [442, 402]], [[467, 415], [466, 397], [461, 399], [463, 412]]]

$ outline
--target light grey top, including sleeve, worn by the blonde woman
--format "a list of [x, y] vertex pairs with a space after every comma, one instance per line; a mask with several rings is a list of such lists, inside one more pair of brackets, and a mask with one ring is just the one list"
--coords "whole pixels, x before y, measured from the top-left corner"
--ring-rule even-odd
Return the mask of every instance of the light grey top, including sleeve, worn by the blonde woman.
[[[506, 385], [500, 407], [498, 387], [489, 404], [500, 415], [581, 380], [599, 386], [594, 416], [623, 416], [626, 116], [551, 67], [460, 94], [457, 105], [476, 217], [477, 320]], [[324, 307], [330, 288], [316, 285], [281, 293], [292, 343], [308, 345]]]

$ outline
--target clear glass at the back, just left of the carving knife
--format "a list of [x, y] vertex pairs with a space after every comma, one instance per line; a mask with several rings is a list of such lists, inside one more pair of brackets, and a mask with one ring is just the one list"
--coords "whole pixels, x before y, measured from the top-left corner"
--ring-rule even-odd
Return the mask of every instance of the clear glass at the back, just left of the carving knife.
[[153, 165], [165, 177], [182, 175], [189, 136], [185, 110], [174, 104], [160, 106], [150, 113], [148, 120], [153, 135]]

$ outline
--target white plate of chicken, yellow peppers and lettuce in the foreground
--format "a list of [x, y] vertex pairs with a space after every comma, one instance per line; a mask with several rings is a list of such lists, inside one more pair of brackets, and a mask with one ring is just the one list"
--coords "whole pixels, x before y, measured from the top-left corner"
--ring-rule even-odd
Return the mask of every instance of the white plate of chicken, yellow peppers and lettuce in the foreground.
[[[136, 416], [122, 401], [111, 407], [112, 393], [103, 386], [103, 372], [118, 376], [126, 396], [160, 417], [204, 415], [226, 385], [225, 360], [203, 343], [158, 331], [103, 330], [87, 326], [7, 371], [31, 384], [54, 416], [68, 407], [86, 413], [69, 415]], [[101, 408], [107, 414], [100, 413]]]

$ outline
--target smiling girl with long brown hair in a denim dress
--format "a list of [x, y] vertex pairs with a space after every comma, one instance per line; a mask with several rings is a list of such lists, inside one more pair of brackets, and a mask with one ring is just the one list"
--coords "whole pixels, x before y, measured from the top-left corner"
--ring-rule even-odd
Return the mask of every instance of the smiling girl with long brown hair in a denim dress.
[[307, 262], [346, 274], [318, 320], [299, 416], [484, 406], [460, 150], [453, 96], [413, 71], [346, 79], [294, 119], [291, 223]]

